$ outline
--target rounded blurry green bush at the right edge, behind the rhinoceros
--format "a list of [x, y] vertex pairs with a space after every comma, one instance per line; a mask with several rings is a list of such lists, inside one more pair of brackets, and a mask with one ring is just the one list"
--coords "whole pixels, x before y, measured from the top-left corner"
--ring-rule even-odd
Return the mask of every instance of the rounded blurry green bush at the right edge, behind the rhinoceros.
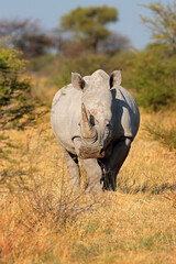
[[138, 102], [145, 109], [158, 111], [176, 102], [176, 55], [164, 44], [154, 44], [136, 54], [132, 88]]

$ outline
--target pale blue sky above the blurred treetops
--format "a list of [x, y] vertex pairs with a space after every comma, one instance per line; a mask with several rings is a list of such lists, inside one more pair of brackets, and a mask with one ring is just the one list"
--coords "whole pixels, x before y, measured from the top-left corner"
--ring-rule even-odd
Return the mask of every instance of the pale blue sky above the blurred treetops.
[[[172, 3], [174, 0], [161, 0]], [[0, 19], [38, 19], [46, 29], [58, 26], [59, 18], [79, 7], [103, 6], [114, 7], [119, 11], [119, 21], [110, 29], [128, 36], [131, 44], [142, 50], [151, 42], [150, 31], [142, 24], [141, 15], [150, 15], [150, 11], [140, 4], [157, 2], [157, 0], [0, 0]]]

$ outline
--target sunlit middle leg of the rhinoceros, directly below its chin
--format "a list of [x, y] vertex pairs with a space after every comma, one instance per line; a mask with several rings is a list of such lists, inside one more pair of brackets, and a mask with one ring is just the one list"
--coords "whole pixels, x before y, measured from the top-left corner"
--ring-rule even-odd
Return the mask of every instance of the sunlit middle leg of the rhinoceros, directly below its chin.
[[100, 191], [102, 190], [102, 186], [100, 183], [101, 179], [101, 167], [99, 166], [96, 158], [88, 158], [88, 160], [81, 160], [80, 162], [82, 166], [86, 169], [87, 176], [88, 176], [88, 188], [87, 190], [92, 191]]

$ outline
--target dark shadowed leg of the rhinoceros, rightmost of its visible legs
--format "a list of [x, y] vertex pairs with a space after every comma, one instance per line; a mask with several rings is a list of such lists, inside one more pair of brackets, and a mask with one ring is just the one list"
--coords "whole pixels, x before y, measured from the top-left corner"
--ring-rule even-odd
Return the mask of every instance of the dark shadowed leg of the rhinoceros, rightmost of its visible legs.
[[132, 140], [128, 138], [121, 139], [113, 145], [110, 157], [102, 161], [105, 164], [103, 189], [117, 189], [117, 175], [129, 154], [131, 142]]

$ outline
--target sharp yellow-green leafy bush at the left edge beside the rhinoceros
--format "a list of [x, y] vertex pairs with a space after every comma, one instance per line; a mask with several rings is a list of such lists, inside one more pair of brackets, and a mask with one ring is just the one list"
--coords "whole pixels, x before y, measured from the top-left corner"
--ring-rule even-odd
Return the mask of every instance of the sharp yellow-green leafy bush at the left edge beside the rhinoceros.
[[0, 130], [22, 129], [34, 122], [40, 102], [32, 92], [32, 79], [22, 77], [25, 61], [21, 53], [0, 43]]

